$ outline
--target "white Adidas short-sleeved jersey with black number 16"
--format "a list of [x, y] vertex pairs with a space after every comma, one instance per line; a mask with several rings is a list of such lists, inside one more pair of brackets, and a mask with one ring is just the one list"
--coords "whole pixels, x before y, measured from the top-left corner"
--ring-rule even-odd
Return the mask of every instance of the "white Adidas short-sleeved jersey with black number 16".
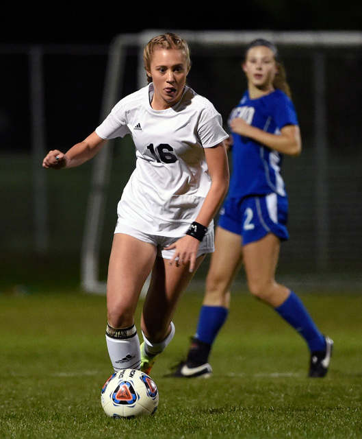
[[205, 97], [188, 86], [180, 101], [153, 110], [153, 84], [123, 98], [96, 128], [102, 139], [131, 134], [136, 167], [118, 203], [118, 222], [145, 233], [181, 236], [196, 218], [211, 178], [203, 148], [228, 134]]

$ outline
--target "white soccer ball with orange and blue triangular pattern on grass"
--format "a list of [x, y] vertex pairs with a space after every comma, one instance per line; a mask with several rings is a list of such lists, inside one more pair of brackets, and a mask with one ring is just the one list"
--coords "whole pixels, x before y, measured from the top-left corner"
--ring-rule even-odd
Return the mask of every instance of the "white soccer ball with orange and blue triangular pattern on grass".
[[144, 372], [122, 369], [103, 385], [101, 403], [112, 418], [134, 418], [154, 414], [159, 394], [157, 385]]

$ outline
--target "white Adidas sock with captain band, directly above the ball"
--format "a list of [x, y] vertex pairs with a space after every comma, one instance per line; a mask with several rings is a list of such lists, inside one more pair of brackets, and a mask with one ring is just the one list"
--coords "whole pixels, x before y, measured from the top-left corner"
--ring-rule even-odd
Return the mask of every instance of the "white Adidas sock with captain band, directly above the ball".
[[134, 324], [129, 328], [112, 328], [107, 324], [105, 340], [114, 372], [121, 369], [140, 369], [140, 340]]

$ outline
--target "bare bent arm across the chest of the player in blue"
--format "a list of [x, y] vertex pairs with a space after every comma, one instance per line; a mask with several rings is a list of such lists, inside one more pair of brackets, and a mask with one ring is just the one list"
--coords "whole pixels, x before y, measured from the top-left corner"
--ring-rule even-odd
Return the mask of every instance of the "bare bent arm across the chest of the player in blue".
[[251, 126], [246, 121], [237, 117], [230, 123], [231, 130], [236, 134], [250, 137], [271, 150], [287, 154], [289, 156], [298, 156], [302, 151], [302, 139], [298, 125], [286, 125], [281, 129], [281, 134], [271, 134]]

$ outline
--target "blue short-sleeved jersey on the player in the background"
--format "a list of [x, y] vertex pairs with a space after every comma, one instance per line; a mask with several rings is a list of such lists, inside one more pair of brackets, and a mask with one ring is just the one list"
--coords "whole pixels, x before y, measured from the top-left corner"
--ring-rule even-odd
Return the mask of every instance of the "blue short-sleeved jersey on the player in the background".
[[[296, 110], [285, 93], [272, 93], [250, 99], [248, 91], [231, 112], [230, 118], [242, 117], [256, 128], [280, 134], [286, 125], [298, 125]], [[233, 172], [228, 198], [277, 193], [286, 196], [281, 176], [283, 155], [248, 137], [233, 133]]]

